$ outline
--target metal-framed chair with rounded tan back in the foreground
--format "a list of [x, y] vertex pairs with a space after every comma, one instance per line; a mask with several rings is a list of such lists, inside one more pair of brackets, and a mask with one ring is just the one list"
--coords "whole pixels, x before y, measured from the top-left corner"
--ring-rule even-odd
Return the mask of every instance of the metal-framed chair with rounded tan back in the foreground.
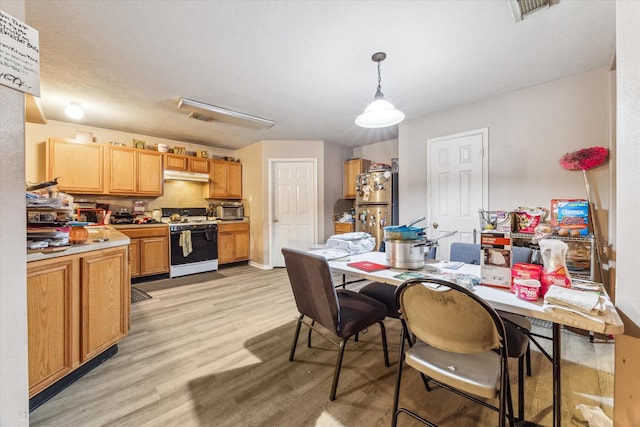
[[[513, 426], [507, 337], [498, 313], [472, 291], [432, 278], [406, 281], [396, 299], [403, 335], [417, 339], [406, 352], [405, 338], [401, 340], [392, 426], [401, 413], [435, 425], [415, 410], [399, 407], [403, 360], [442, 388], [496, 410], [500, 427], [507, 419]], [[488, 401], [496, 397], [497, 405]]]

